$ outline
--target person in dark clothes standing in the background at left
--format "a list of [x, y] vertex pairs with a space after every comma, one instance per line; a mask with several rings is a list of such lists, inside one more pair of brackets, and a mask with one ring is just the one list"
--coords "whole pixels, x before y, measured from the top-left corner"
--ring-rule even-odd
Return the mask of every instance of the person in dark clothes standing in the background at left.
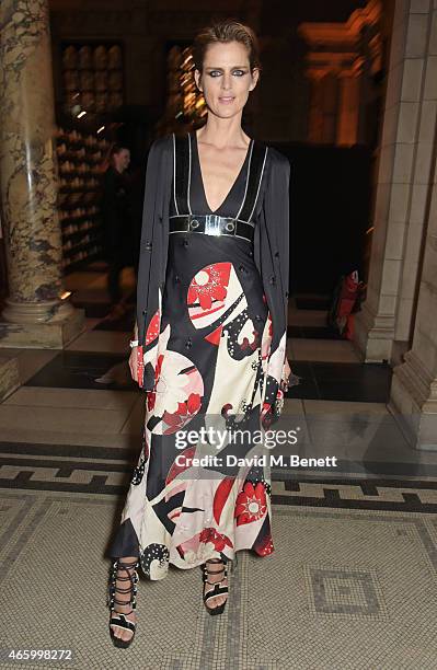
[[119, 285], [122, 269], [135, 265], [133, 217], [128, 180], [125, 174], [129, 163], [129, 149], [114, 145], [111, 150], [110, 166], [103, 176], [103, 249], [108, 264], [107, 290], [113, 305], [122, 301]]

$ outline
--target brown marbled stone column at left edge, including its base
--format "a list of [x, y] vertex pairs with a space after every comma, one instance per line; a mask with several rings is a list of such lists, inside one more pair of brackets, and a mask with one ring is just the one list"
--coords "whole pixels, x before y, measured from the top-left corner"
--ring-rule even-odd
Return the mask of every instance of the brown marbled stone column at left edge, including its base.
[[83, 312], [61, 298], [47, 0], [0, 4], [0, 187], [10, 296], [0, 347], [61, 348]]

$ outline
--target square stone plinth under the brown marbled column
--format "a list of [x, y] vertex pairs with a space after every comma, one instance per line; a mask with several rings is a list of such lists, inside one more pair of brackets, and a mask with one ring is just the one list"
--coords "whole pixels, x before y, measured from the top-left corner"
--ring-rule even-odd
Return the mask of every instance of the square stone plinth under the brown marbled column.
[[38, 323], [12, 323], [0, 319], [0, 349], [16, 347], [26, 349], [64, 349], [83, 331], [84, 310], [59, 312]]

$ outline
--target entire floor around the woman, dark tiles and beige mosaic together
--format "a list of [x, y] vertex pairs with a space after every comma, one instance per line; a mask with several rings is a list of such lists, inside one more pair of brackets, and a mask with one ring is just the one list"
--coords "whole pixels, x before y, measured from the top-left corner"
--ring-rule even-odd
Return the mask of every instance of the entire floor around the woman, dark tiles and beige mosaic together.
[[[390, 368], [360, 363], [317, 300], [290, 308], [302, 383], [281, 424], [301, 426], [297, 453], [338, 466], [272, 469], [275, 553], [239, 553], [226, 614], [205, 612], [198, 569], [141, 576], [136, 639], [112, 645], [106, 547], [143, 395], [127, 366], [131, 308], [108, 317], [101, 266], [68, 282], [85, 332], [65, 351], [19, 350], [22, 386], [0, 404], [0, 668], [435, 670], [437, 454], [409, 447], [386, 407]], [[73, 658], [9, 662], [5, 647]]]

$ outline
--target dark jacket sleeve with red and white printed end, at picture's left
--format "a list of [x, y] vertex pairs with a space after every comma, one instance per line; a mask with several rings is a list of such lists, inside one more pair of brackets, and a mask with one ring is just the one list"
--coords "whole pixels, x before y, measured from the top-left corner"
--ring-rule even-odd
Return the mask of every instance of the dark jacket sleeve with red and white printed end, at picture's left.
[[159, 138], [152, 142], [147, 160], [137, 280], [138, 384], [146, 391], [154, 386], [161, 323], [162, 263], [165, 253], [163, 231], [160, 229], [164, 186], [162, 141]]

